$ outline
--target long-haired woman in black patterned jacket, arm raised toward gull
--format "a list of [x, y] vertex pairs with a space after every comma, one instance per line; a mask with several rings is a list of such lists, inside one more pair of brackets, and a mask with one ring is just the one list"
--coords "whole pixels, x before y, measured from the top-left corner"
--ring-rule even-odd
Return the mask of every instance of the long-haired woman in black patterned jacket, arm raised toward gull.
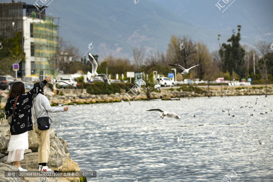
[[38, 86], [25, 93], [25, 85], [22, 82], [15, 82], [9, 93], [9, 98], [5, 106], [5, 115], [12, 114], [16, 102], [14, 116], [10, 126], [11, 138], [8, 144], [8, 162], [26, 171], [20, 166], [20, 161], [24, 159], [24, 152], [29, 148], [28, 131], [32, 128], [31, 103], [32, 100], [44, 88], [45, 84], [51, 80], [47, 77]]

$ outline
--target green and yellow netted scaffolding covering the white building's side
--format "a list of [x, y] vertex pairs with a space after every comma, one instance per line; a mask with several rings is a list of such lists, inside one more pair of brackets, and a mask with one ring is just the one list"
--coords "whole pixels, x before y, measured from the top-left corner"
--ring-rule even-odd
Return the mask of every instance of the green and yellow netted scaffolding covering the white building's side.
[[[32, 18], [37, 14], [32, 12]], [[35, 57], [35, 73], [43, 75], [57, 74], [57, 58], [59, 50], [58, 25], [54, 24], [54, 17], [44, 17], [43, 21], [33, 22], [33, 39], [31, 45]]]

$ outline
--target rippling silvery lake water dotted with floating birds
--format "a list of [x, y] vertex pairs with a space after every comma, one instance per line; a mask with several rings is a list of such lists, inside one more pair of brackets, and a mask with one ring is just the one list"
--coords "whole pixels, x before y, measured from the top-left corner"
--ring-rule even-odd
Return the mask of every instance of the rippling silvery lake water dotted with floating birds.
[[[226, 179], [272, 182], [273, 96], [261, 96], [255, 106], [256, 98], [72, 105], [68, 112], [50, 116], [52, 129], [68, 142], [70, 157], [81, 170], [97, 171], [87, 181], [221, 181], [233, 170]], [[146, 111], [153, 108], [181, 119]]]

